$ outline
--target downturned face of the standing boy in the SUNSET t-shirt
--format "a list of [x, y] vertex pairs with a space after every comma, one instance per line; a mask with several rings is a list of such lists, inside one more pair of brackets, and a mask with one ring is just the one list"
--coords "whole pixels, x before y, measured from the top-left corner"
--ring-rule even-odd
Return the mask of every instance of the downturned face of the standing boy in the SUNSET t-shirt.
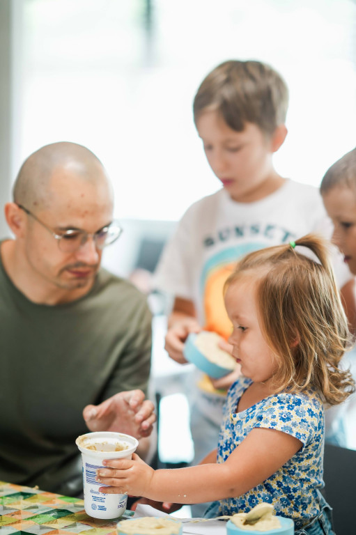
[[204, 111], [196, 128], [212, 171], [234, 201], [258, 201], [276, 189], [271, 141], [258, 126], [247, 123], [236, 132], [217, 111]]

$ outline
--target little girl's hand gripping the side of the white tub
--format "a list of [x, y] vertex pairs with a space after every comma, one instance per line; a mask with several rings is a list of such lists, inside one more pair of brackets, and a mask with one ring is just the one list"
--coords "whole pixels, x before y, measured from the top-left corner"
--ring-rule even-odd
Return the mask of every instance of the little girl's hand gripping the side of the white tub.
[[155, 470], [146, 465], [137, 453], [132, 454], [132, 459], [107, 459], [102, 463], [105, 467], [97, 470], [96, 481], [108, 486], [100, 487], [100, 493], [127, 493], [132, 496], [148, 494]]

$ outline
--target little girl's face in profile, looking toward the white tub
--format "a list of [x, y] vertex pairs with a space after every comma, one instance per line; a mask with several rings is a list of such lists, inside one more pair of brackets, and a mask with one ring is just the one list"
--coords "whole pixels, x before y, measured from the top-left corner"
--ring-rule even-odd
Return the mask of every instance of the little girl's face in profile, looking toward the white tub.
[[268, 347], [258, 322], [256, 283], [251, 278], [235, 281], [225, 294], [225, 307], [233, 324], [229, 343], [241, 373], [254, 382], [268, 383], [278, 362]]

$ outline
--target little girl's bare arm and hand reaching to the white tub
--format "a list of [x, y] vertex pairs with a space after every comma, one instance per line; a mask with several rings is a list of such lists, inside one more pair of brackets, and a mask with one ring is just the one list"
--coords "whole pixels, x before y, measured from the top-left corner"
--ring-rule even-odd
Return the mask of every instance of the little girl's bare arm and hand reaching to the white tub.
[[[237, 497], [272, 476], [301, 447], [302, 442], [291, 435], [254, 428], [224, 463], [153, 470], [134, 453], [132, 460], [105, 461], [107, 468], [98, 470], [97, 479], [108, 487], [99, 490], [180, 504]], [[209, 456], [204, 461], [209, 461]]]

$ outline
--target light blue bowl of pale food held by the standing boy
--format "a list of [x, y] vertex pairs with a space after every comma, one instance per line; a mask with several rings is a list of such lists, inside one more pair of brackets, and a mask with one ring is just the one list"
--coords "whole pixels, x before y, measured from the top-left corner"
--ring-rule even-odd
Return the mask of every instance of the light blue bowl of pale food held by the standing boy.
[[214, 379], [219, 379], [235, 369], [236, 361], [230, 353], [219, 348], [222, 338], [216, 332], [191, 332], [185, 341], [183, 354], [188, 362]]

